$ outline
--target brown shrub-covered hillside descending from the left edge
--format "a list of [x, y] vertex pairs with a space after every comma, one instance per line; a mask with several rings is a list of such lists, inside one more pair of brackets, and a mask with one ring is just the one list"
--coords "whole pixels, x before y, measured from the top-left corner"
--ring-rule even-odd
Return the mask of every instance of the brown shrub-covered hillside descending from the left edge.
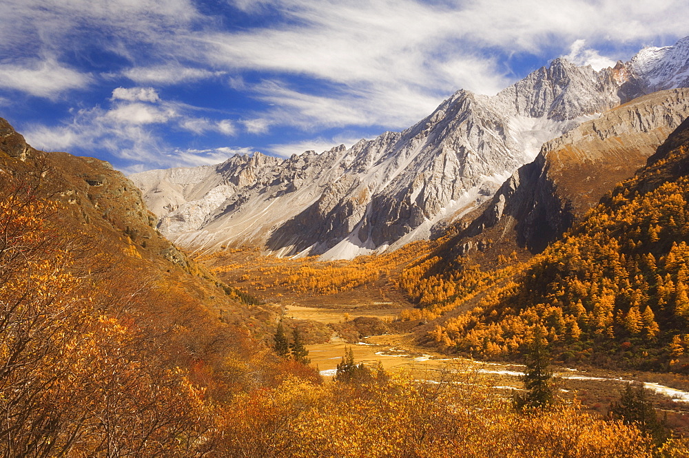
[[3, 456], [200, 456], [216, 403], [317, 379], [258, 340], [271, 311], [157, 234], [119, 172], [1, 121]]

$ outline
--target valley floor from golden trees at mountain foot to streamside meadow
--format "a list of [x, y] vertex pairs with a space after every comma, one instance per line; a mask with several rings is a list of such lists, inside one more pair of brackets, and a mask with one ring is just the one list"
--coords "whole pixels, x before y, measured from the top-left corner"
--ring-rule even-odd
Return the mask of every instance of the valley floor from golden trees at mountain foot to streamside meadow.
[[[305, 331], [304, 335], [313, 337], [307, 342], [311, 366], [318, 368], [325, 379], [335, 375], [345, 348], [351, 348], [357, 364], [372, 368], [380, 364], [387, 371], [411, 372], [417, 379], [438, 379], [453, 366], [470, 365], [480, 373], [482, 382], [493, 387], [497, 396], [506, 397], [513, 389], [522, 388], [519, 376], [523, 366], [519, 364], [473, 362], [419, 346], [414, 331], [426, 327], [425, 321], [398, 320], [413, 304], [391, 280], [395, 275], [394, 264], [389, 272], [381, 274], [378, 270], [366, 275], [365, 262], [287, 260], [243, 250], [207, 258], [205, 264], [223, 281], [274, 306], [287, 327], [298, 326], [300, 331]], [[336, 275], [342, 275], [345, 280], [334, 281]], [[329, 278], [333, 278], [333, 284], [345, 284], [348, 279], [358, 278], [357, 275], [363, 278], [358, 286], [335, 293], [316, 293], [318, 284]], [[305, 282], [309, 278], [316, 280], [315, 288], [307, 287]], [[380, 333], [362, 331], [358, 338], [356, 332], [351, 332], [358, 318], [378, 320], [388, 329]], [[267, 337], [269, 341], [271, 336]], [[606, 415], [626, 384], [644, 383], [654, 406], [661, 415], [667, 415], [669, 426], [678, 433], [689, 434], [689, 378], [686, 376], [611, 371], [592, 366], [553, 366], [553, 370], [560, 377], [559, 396], [569, 402], [577, 399], [582, 408], [595, 415]]]

